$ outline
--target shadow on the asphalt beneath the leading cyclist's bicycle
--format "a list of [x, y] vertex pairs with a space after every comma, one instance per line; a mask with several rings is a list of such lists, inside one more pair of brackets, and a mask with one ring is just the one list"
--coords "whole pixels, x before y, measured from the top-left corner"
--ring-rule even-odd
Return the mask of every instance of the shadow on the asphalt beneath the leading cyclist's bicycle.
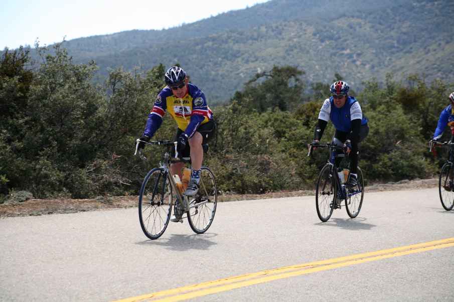
[[156, 240], [145, 240], [136, 242], [140, 245], [163, 246], [166, 249], [174, 251], [187, 251], [187, 250], [208, 250], [211, 246], [216, 245], [216, 242], [210, 238], [217, 236], [216, 233], [204, 234], [171, 234], [170, 238], [159, 238]]

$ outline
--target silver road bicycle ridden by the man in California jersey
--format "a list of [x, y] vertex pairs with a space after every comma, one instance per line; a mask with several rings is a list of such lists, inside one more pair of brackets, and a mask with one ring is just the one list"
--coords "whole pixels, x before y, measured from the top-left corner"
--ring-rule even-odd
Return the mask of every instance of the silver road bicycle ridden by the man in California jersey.
[[[180, 192], [171, 175], [170, 165], [185, 163], [190, 166], [192, 172], [191, 158], [178, 156], [177, 142], [149, 141], [145, 143], [148, 146], [175, 147], [175, 157], [171, 157], [167, 150], [161, 166], [150, 170], [143, 180], [138, 205], [140, 227], [143, 233], [150, 239], [159, 238], [169, 224], [172, 208], [175, 215], [182, 217], [180, 222], [183, 222], [184, 218], [188, 218], [189, 225], [194, 232], [198, 234], [206, 232], [213, 222], [218, 198], [213, 172], [207, 167], [202, 167], [199, 191], [195, 196], [186, 196], [184, 192]], [[137, 149], [138, 143], [136, 153]], [[204, 152], [207, 149], [204, 146]], [[141, 151], [139, 150], [140, 158], [145, 160]], [[185, 214], [186, 216], [183, 216]]]

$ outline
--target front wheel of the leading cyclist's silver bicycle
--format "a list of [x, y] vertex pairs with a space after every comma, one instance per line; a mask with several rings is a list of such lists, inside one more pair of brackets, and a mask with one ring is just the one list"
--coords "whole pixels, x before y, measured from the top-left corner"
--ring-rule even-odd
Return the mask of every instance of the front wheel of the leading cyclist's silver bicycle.
[[148, 172], [139, 195], [139, 222], [150, 239], [159, 238], [167, 228], [172, 209], [172, 187], [163, 168]]

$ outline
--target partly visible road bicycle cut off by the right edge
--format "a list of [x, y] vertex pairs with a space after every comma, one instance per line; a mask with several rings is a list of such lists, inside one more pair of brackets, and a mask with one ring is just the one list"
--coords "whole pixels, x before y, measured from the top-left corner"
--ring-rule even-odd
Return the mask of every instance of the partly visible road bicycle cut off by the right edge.
[[440, 178], [438, 181], [438, 192], [440, 194], [441, 205], [446, 211], [450, 211], [454, 207], [454, 181], [452, 178], [452, 164], [454, 162], [454, 143], [453, 142], [437, 142], [429, 141], [429, 150], [436, 156], [435, 146], [448, 146], [450, 148], [446, 162], [440, 170]]

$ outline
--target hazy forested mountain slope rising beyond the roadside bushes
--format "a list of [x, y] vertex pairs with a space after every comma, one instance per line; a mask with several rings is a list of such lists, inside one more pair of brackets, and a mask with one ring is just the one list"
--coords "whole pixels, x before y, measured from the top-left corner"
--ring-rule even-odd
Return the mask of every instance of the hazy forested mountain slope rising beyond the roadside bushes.
[[384, 83], [387, 72], [452, 82], [453, 12], [450, 0], [271, 0], [168, 30], [80, 38], [64, 47], [74, 62], [96, 62], [97, 83], [109, 68], [178, 62], [217, 104], [274, 65], [304, 70], [308, 82], [338, 72], [358, 89], [364, 80]]

